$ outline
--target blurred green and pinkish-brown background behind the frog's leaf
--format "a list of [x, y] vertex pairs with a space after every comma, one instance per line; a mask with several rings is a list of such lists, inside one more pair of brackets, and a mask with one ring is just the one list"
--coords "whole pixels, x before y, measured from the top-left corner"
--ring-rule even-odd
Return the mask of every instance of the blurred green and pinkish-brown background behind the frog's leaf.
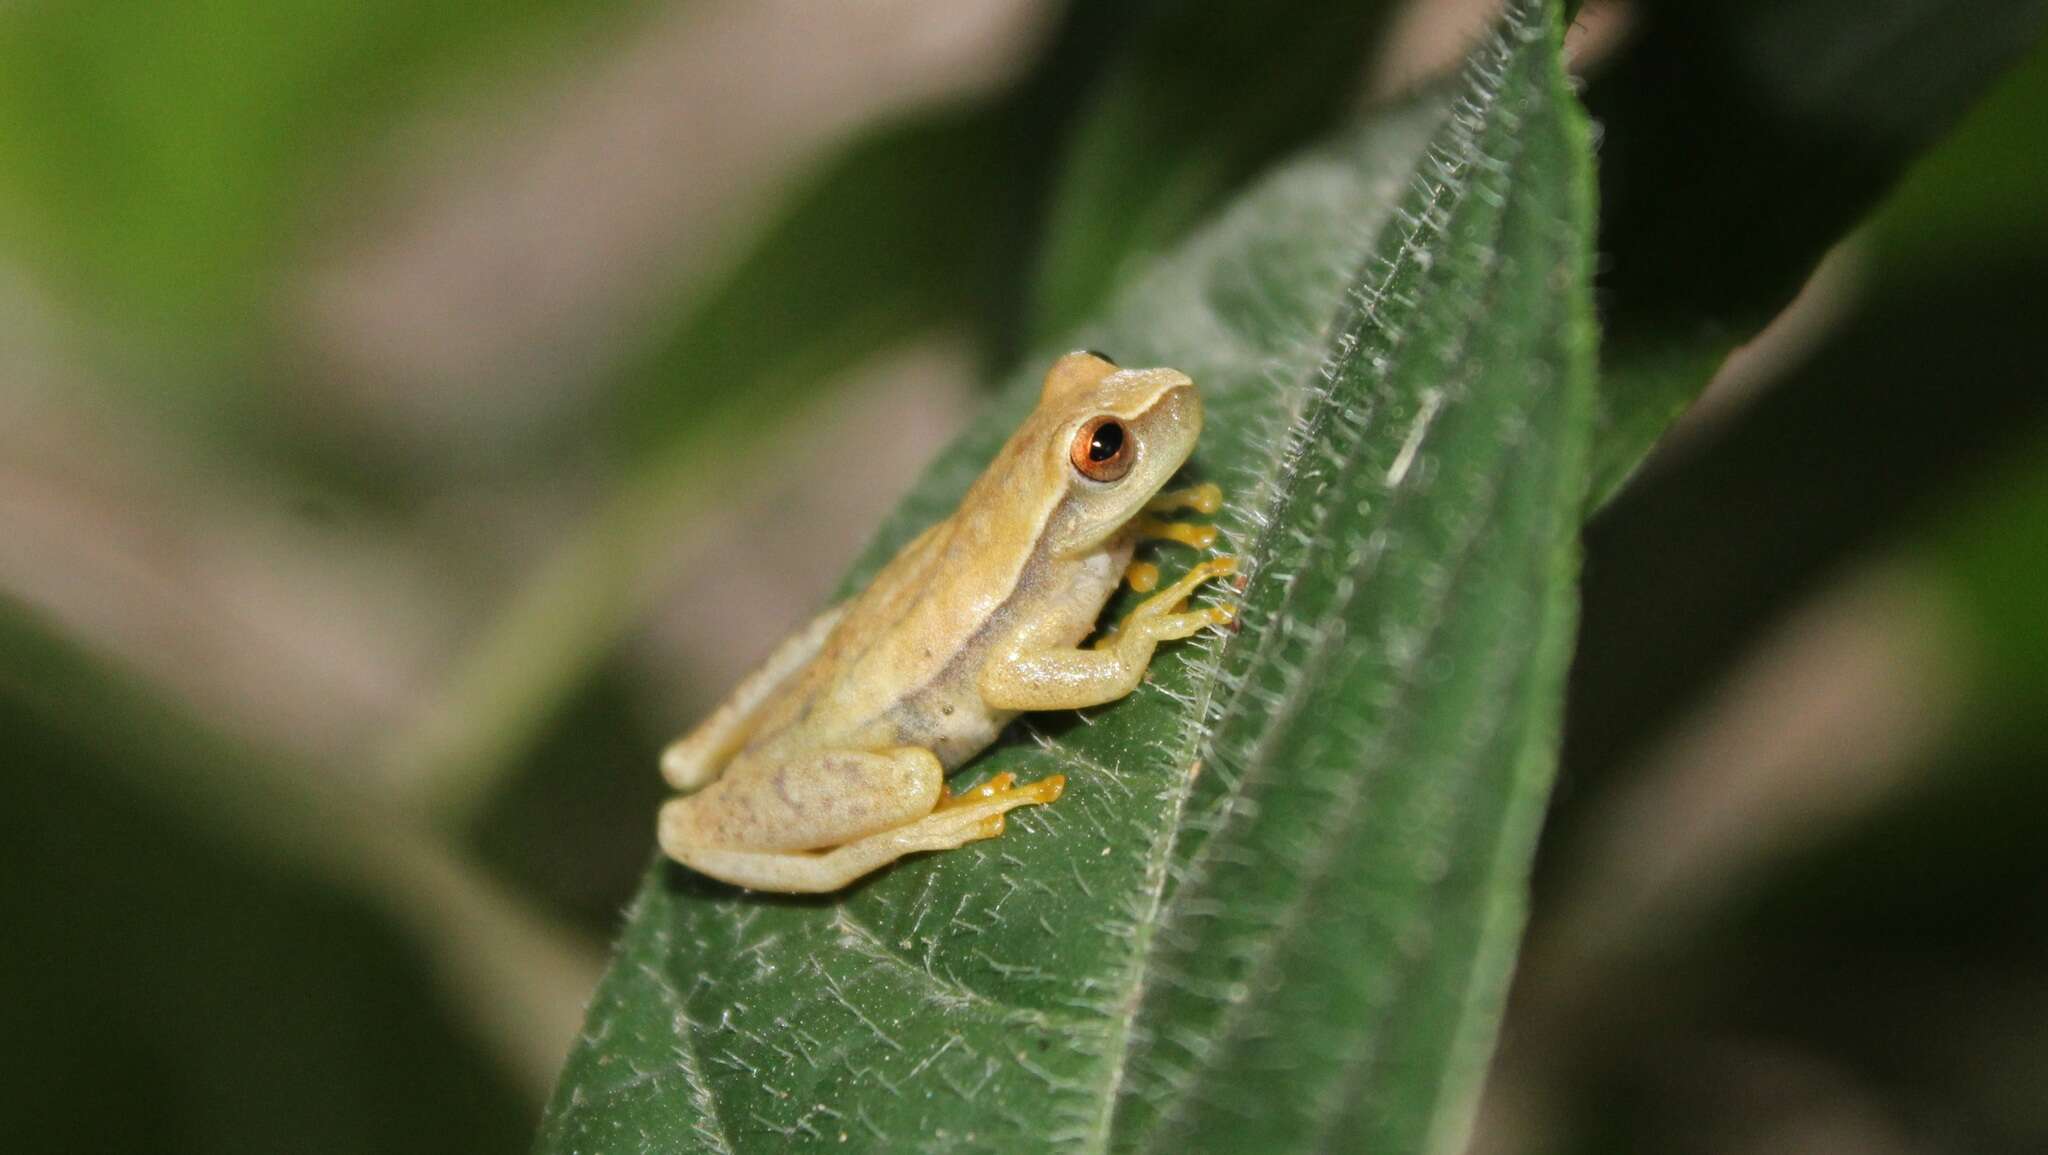
[[[1253, 8], [0, 10], [6, 1147], [526, 1145], [659, 745], [1491, 4]], [[2048, 53], [1970, 84], [1589, 524], [1481, 1151], [2048, 1149]]]

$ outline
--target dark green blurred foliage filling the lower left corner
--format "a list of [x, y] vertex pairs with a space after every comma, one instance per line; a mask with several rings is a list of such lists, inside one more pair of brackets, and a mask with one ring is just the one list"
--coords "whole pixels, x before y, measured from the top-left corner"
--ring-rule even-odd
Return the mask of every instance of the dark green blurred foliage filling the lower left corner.
[[502, 1057], [324, 846], [371, 844], [8, 602], [0, 653], [10, 1149], [524, 1141]]

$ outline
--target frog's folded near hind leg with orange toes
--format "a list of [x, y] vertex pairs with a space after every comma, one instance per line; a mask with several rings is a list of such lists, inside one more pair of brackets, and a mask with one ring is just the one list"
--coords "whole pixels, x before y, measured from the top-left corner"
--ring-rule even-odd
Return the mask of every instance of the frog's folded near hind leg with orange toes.
[[838, 891], [905, 854], [952, 850], [1004, 831], [1004, 813], [1051, 803], [1063, 780], [1008, 780], [944, 797], [930, 750], [821, 750], [791, 762], [735, 766], [705, 790], [662, 807], [662, 850], [754, 891]]

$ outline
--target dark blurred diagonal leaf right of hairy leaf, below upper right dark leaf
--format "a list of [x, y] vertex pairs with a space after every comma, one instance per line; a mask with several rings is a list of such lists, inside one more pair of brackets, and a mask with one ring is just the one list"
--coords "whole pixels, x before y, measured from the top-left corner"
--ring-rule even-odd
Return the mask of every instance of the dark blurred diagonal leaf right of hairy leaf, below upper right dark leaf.
[[2040, 260], [1987, 264], [1868, 301], [1587, 528], [1569, 727], [1587, 799], [1759, 631], [2048, 418], [2032, 303], [2044, 276]]

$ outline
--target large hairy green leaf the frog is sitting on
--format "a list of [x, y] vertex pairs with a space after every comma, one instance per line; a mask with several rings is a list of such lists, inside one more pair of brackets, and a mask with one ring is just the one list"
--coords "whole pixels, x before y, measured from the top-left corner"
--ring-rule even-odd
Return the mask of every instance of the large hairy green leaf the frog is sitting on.
[[[1554, 6], [1458, 92], [1255, 186], [1077, 340], [1190, 371], [1243, 631], [1038, 717], [1001, 840], [846, 895], [657, 866], [541, 1151], [1454, 1145], [1491, 1049], [1573, 625], [1593, 338]], [[1014, 381], [854, 580], [940, 516]]]

